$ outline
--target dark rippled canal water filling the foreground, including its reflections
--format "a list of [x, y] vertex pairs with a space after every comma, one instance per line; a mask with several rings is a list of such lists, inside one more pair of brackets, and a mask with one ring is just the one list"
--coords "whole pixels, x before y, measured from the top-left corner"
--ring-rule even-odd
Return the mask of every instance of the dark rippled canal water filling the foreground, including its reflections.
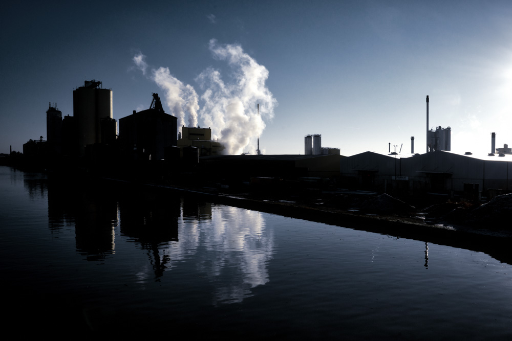
[[511, 265], [481, 252], [9, 167], [0, 226], [6, 330], [512, 337]]

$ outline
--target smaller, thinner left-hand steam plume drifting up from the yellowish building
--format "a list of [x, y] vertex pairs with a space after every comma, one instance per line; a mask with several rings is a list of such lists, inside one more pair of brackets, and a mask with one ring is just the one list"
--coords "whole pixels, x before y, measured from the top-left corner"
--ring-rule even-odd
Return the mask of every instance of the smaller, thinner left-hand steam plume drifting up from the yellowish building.
[[[133, 57], [137, 68], [146, 74], [146, 56], [138, 54]], [[188, 127], [197, 126], [197, 110], [199, 109], [198, 96], [194, 87], [183, 84], [178, 78], [170, 74], [168, 67], [152, 70], [152, 79], [160, 88], [165, 90], [165, 103], [170, 111], [179, 118], [179, 126], [185, 125], [185, 112], [188, 112]]]

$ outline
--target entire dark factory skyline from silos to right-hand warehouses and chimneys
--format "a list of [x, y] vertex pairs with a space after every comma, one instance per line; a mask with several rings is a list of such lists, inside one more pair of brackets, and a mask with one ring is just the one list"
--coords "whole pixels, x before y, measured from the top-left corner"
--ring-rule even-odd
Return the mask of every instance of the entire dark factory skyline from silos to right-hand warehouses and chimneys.
[[488, 155], [450, 151], [451, 128], [429, 127], [429, 96], [424, 154], [414, 152], [411, 137], [411, 153], [401, 153], [403, 146], [399, 152], [393, 146], [392, 151], [389, 144], [386, 154], [343, 156], [337, 148], [322, 147], [320, 134], [308, 134], [304, 155], [263, 155], [259, 139], [255, 154], [224, 155], [225, 148], [212, 140], [210, 127], [182, 126], [178, 131], [177, 118], [164, 111], [158, 94], [153, 94], [148, 109], [119, 119], [119, 129], [112, 106], [112, 90], [96, 80], [73, 90], [73, 116], [62, 117], [56, 104], [50, 104], [47, 140], [40, 137], [24, 144], [23, 165], [58, 172], [86, 170], [140, 183], [221, 190], [249, 185], [256, 192], [313, 196], [345, 188], [402, 197], [490, 199], [508, 193], [512, 180], [512, 151], [506, 144], [496, 148], [495, 133]]

